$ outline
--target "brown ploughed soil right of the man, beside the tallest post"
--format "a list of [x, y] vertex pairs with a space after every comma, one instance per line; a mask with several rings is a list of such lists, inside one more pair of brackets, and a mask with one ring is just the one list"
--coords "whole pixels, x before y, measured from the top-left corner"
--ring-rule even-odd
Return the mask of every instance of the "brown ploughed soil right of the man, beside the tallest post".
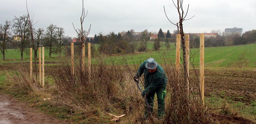
[[[199, 70], [197, 70], [199, 73]], [[250, 104], [256, 100], [256, 71], [231, 68], [205, 69], [205, 95], [218, 95], [233, 101]], [[198, 89], [195, 72], [191, 70], [191, 84]], [[199, 74], [197, 74], [199, 77]], [[198, 90], [197, 90], [198, 91]]]

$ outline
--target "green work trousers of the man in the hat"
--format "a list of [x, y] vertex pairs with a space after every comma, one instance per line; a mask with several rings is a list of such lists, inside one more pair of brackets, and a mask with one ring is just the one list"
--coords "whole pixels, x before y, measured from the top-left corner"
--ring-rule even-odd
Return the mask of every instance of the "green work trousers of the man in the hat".
[[146, 100], [150, 106], [150, 110], [148, 111], [148, 106], [145, 104], [145, 117], [148, 118], [148, 113], [153, 112], [154, 106], [154, 97], [155, 93], [157, 93], [157, 104], [158, 104], [158, 117], [161, 117], [165, 114], [165, 96], [166, 96], [166, 85], [158, 86], [158, 88], [152, 93], [146, 93]]

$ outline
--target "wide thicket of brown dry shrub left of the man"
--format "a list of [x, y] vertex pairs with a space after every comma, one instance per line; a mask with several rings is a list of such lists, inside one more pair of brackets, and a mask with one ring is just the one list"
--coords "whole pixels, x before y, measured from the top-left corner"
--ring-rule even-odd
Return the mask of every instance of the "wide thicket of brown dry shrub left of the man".
[[125, 67], [109, 65], [99, 59], [92, 64], [90, 76], [88, 67], [82, 68], [81, 61], [77, 60], [74, 76], [69, 62], [63, 62], [55, 74], [61, 104], [69, 106], [73, 111], [86, 111], [85, 115], [118, 112], [113, 114], [141, 116], [144, 102], [133, 77]]

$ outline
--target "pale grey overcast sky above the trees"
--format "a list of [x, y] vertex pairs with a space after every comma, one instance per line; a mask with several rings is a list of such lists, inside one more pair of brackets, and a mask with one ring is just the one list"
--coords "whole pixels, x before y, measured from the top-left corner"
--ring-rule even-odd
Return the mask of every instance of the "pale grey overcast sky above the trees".
[[[82, 0], [27, 0], [29, 13], [34, 15], [35, 28], [46, 28], [50, 24], [64, 27], [65, 36], [75, 37], [80, 28]], [[176, 0], [175, 0], [176, 2]], [[255, 0], [184, 0], [183, 8], [189, 10], [183, 22], [185, 33], [210, 33], [225, 28], [243, 28], [243, 32], [256, 29]], [[83, 28], [91, 31], [89, 37], [102, 32], [134, 29], [135, 32], [176, 30], [169, 19], [176, 23], [179, 16], [171, 0], [84, 0], [88, 14]], [[0, 24], [13, 20], [14, 16], [27, 14], [25, 0], [0, 0]]]

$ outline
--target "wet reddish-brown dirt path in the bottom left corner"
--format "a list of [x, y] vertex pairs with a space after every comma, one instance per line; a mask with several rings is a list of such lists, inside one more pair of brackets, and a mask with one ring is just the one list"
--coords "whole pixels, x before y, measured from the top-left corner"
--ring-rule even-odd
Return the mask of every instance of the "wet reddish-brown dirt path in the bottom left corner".
[[10, 95], [0, 93], [0, 124], [60, 124], [62, 120], [46, 115], [20, 103]]

